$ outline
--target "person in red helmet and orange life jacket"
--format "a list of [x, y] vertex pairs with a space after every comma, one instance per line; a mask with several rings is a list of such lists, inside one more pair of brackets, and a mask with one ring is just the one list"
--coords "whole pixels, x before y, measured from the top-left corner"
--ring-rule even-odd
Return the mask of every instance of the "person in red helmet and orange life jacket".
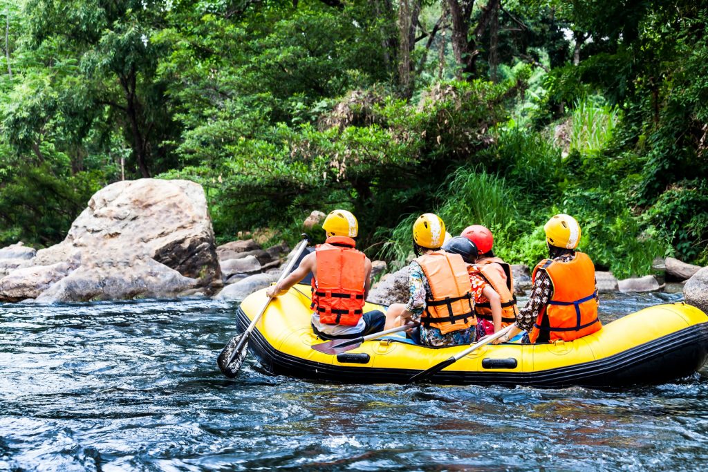
[[498, 294], [501, 303], [501, 326], [494, 318], [494, 306], [490, 300], [475, 300], [474, 313], [477, 316], [477, 333], [479, 336], [496, 333], [499, 328], [509, 326], [516, 320], [518, 308], [516, 297], [514, 296], [514, 280], [511, 273], [511, 266], [501, 258], [494, 255], [494, 237], [489, 229], [479, 224], [467, 226], [462, 231], [464, 236], [472, 241], [479, 251], [474, 267], [471, 272], [476, 272], [477, 277], [472, 277], [472, 286], [475, 287], [482, 279], [486, 284], [491, 285]]

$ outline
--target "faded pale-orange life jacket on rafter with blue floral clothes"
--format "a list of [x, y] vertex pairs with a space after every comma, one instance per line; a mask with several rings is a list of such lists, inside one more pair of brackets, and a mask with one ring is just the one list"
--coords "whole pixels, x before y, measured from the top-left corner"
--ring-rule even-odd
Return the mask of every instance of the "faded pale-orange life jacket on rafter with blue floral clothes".
[[416, 262], [423, 268], [433, 297], [426, 299], [426, 315], [421, 316], [423, 326], [432, 326], [447, 334], [476, 325], [472, 287], [462, 256], [435, 251], [421, 255]]

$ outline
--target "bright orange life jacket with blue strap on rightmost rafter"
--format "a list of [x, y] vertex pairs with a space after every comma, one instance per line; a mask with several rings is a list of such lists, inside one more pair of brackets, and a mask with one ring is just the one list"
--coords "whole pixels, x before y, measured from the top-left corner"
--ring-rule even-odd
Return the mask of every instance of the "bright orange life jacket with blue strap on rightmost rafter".
[[603, 327], [595, 298], [595, 266], [587, 254], [576, 253], [575, 258], [566, 263], [544, 259], [533, 270], [532, 280], [536, 280], [539, 269], [544, 269], [550, 277], [553, 296], [529, 333], [532, 343], [541, 331], [549, 334], [550, 341], [572, 341]]

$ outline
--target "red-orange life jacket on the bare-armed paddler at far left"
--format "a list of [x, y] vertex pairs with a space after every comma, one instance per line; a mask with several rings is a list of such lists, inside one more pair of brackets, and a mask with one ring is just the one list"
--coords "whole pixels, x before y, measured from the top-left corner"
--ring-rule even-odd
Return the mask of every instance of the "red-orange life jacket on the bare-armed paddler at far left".
[[312, 306], [320, 323], [356, 326], [364, 308], [365, 260], [346, 236], [327, 238], [317, 245], [317, 280], [312, 279]]

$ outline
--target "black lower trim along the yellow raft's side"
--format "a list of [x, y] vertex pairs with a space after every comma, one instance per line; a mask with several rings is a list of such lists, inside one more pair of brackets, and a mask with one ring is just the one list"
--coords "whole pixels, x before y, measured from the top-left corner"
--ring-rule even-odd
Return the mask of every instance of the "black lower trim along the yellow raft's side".
[[[239, 307], [236, 319], [241, 329], [249, 318]], [[416, 369], [382, 369], [321, 364], [285, 354], [273, 348], [258, 329], [253, 330], [249, 347], [263, 367], [277, 375], [337, 381], [347, 384], [403, 384], [420, 372]], [[523, 349], [532, 349], [531, 345]], [[536, 387], [622, 387], [662, 384], [695, 372], [708, 357], [708, 323], [689, 326], [619, 354], [584, 364], [537, 372], [441, 371], [430, 384], [527, 385]], [[483, 361], [484, 362], [484, 361]]]

